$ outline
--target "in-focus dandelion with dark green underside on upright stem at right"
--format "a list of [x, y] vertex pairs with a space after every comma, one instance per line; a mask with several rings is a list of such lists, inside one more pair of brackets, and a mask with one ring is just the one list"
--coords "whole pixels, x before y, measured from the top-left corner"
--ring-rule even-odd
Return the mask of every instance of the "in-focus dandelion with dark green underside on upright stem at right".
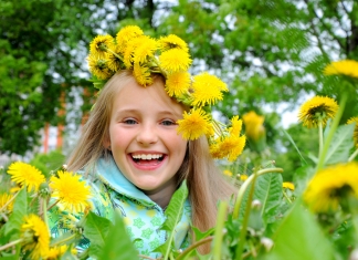
[[325, 126], [327, 121], [336, 115], [337, 111], [338, 104], [335, 100], [328, 96], [314, 96], [301, 106], [298, 118], [308, 128], [317, 127], [319, 118]]

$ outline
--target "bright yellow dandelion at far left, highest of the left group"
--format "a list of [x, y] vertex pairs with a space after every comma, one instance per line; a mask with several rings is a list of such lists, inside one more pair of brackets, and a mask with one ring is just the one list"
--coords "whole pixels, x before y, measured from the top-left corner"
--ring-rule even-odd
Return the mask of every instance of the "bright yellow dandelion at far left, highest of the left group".
[[12, 181], [20, 186], [27, 186], [28, 191], [32, 189], [38, 191], [40, 185], [45, 181], [45, 177], [39, 169], [22, 162], [12, 163], [8, 174], [11, 175]]

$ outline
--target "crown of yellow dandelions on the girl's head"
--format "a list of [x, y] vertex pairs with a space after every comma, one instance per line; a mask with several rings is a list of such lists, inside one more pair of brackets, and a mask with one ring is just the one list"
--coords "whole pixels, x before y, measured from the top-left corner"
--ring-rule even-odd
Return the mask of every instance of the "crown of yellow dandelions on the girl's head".
[[190, 106], [179, 119], [178, 133], [186, 139], [206, 135], [214, 158], [228, 157], [233, 162], [242, 153], [245, 136], [241, 135], [242, 121], [231, 119], [230, 127], [215, 121], [211, 105], [223, 98], [228, 86], [219, 77], [203, 72], [191, 76], [188, 44], [175, 34], [152, 39], [137, 25], [118, 31], [116, 38], [97, 35], [90, 44], [87, 58], [94, 86], [101, 91], [104, 84], [119, 70], [131, 70], [138, 84], [152, 83], [152, 73], [166, 79], [166, 92], [170, 97]]

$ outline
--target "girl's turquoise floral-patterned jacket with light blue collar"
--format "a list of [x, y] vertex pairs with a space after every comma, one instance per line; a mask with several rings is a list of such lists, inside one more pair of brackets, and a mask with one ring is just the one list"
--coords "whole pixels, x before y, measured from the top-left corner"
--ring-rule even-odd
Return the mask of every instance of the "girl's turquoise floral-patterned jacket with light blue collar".
[[[160, 253], [152, 250], [167, 239], [167, 231], [160, 230], [166, 219], [162, 208], [126, 179], [112, 157], [99, 158], [85, 179], [94, 196], [93, 211], [114, 221], [114, 214], [119, 209], [128, 235], [133, 241], [135, 240], [134, 245], [139, 254], [150, 258], [160, 257]], [[191, 206], [187, 199], [181, 220], [175, 228], [176, 249], [188, 247], [190, 221]]]

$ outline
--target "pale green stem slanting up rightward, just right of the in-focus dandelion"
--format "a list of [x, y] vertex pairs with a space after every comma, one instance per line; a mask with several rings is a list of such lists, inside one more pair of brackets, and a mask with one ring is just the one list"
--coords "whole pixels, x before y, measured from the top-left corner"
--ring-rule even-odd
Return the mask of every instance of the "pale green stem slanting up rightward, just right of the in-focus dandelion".
[[317, 169], [316, 169], [316, 173], [318, 170], [320, 170], [325, 164], [325, 158], [326, 158], [326, 155], [327, 155], [327, 152], [328, 152], [328, 148], [329, 148], [329, 145], [330, 145], [330, 142], [333, 139], [333, 136], [339, 125], [339, 121], [341, 118], [341, 115], [345, 111], [345, 106], [346, 106], [346, 102], [347, 102], [347, 94], [344, 93], [341, 100], [340, 100], [340, 104], [339, 104], [339, 108], [338, 108], [338, 112], [331, 123], [331, 126], [330, 126], [330, 129], [329, 129], [329, 133], [328, 133], [328, 136], [326, 138], [326, 142], [325, 142], [325, 145], [323, 147], [323, 150], [322, 150], [322, 154], [319, 155], [319, 159], [318, 159], [318, 164], [317, 164]]

